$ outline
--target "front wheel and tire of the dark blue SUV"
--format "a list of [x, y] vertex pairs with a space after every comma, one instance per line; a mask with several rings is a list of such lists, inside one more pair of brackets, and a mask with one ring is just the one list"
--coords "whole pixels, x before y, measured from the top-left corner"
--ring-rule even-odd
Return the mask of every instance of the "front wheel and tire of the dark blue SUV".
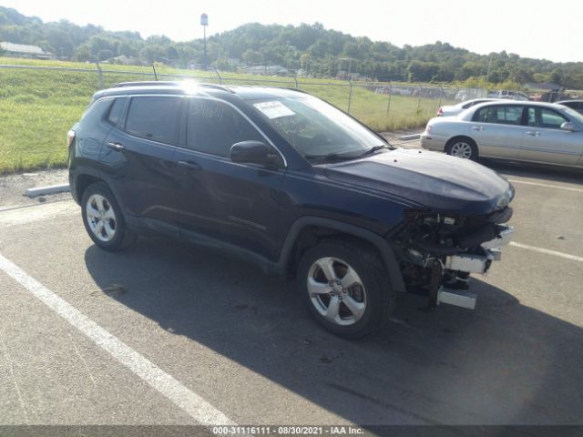
[[394, 310], [396, 293], [378, 254], [357, 241], [324, 240], [308, 249], [297, 280], [312, 317], [345, 339], [377, 330]]

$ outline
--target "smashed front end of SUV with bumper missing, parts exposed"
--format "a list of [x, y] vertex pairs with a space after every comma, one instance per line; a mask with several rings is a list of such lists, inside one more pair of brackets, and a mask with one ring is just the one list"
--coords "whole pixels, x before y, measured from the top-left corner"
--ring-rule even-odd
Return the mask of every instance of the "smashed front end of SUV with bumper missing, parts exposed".
[[507, 203], [485, 215], [406, 211], [389, 240], [407, 291], [427, 295], [432, 307], [443, 302], [473, 310], [469, 275], [486, 274], [501, 259], [501, 248], [514, 234], [506, 225], [511, 217]]

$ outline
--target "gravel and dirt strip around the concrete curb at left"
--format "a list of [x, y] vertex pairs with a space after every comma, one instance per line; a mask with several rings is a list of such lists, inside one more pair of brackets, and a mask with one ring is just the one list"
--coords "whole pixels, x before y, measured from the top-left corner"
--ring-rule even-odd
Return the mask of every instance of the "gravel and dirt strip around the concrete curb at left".
[[70, 198], [71, 195], [69, 193], [58, 193], [37, 198], [28, 198], [25, 194], [27, 188], [66, 184], [68, 181], [68, 170], [66, 168], [0, 176], [0, 210]]

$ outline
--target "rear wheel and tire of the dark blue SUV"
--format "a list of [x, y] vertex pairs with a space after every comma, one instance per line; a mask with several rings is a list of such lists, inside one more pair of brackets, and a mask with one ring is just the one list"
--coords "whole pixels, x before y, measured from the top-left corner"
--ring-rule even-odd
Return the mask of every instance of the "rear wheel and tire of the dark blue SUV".
[[81, 214], [87, 234], [101, 249], [112, 252], [125, 249], [137, 239], [105, 182], [86, 188], [81, 198]]

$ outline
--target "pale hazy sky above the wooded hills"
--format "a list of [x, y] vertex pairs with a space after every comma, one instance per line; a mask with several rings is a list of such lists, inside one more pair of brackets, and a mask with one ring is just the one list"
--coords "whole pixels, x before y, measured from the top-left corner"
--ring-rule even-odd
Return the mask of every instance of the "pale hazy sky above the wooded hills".
[[66, 19], [107, 30], [165, 35], [175, 41], [207, 36], [245, 23], [322, 23], [353, 36], [421, 46], [442, 41], [481, 55], [506, 50], [555, 62], [583, 62], [583, 0], [553, 3], [518, 0], [0, 0], [43, 21]]

